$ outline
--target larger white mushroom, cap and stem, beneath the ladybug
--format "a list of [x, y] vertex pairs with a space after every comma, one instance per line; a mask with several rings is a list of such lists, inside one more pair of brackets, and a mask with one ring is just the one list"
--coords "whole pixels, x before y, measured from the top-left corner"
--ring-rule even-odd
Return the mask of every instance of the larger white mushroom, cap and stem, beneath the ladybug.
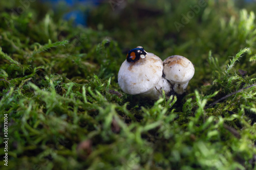
[[[127, 54], [127, 57], [134, 52], [133, 50]], [[144, 49], [142, 51], [144, 52]], [[122, 63], [118, 72], [118, 84], [125, 93], [140, 94], [157, 100], [162, 94], [162, 89], [166, 93], [170, 91], [170, 84], [162, 77], [162, 72], [162, 60], [153, 53], [146, 53], [145, 57], [142, 56], [139, 60], [132, 62], [125, 60]]]

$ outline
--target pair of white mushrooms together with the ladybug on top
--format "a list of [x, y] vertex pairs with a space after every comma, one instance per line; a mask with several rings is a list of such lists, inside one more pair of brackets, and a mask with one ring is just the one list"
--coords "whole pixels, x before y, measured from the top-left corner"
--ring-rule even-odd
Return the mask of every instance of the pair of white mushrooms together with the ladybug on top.
[[187, 58], [170, 56], [162, 61], [142, 46], [130, 50], [118, 72], [118, 84], [123, 92], [139, 94], [157, 100], [166, 94], [183, 94], [195, 68]]

